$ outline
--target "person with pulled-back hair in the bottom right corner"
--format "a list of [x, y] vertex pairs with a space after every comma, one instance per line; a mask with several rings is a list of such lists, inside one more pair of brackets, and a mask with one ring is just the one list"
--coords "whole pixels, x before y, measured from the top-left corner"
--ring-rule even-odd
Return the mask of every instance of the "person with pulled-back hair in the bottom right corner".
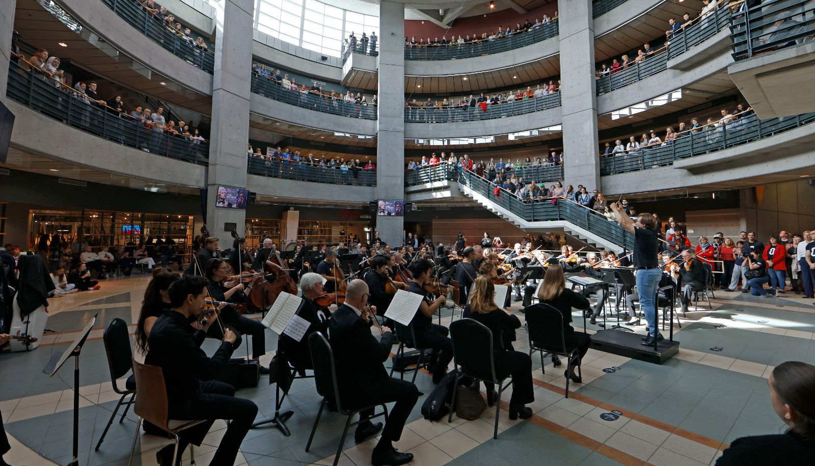
[[815, 458], [815, 367], [787, 361], [773, 369], [767, 380], [773, 411], [786, 424], [786, 433], [740, 437], [716, 466], [812, 464]]

